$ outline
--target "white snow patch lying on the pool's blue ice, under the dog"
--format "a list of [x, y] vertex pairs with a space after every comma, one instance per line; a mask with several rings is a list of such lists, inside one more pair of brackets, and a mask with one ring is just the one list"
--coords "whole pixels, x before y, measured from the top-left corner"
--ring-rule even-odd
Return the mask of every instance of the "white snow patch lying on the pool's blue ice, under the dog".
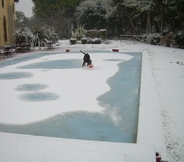
[[[14, 80], [2, 80], [1, 89], [6, 91], [1, 94], [0, 122], [6, 124], [26, 124], [39, 121], [59, 113], [69, 111], [91, 111], [100, 112], [103, 110], [98, 105], [96, 98], [110, 90], [106, 80], [113, 76], [117, 71], [116, 62], [103, 61], [104, 59], [129, 60], [132, 56], [123, 54], [98, 54], [91, 55], [94, 62], [94, 68], [77, 69], [51, 69], [43, 72], [42, 69], [16, 69], [23, 65], [38, 63], [51, 60], [80, 59], [83, 54], [60, 54], [41, 57], [36, 60], [30, 60], [16, 65], [5, 67], [4, 72], [31, 72], [32, 78], [22, 78]], [[81, 61], [82, 64], [82, 61]], [[81, 67], [81, 65], [79, 65]], [[22, 84], [41, 83], [49, 85], [46, 90], [39, 92], [52, 92], [60, 96], [60, 99], [50, 102], [25, 102], [21, 101], [19, 96], [26, 92], [16, 91], [15, 88]], [[89, 94], [90, 92], [90, 94]], [[11, 94], [11, 96], [10, 96]], [[89, 94], [89, 95], [84, 95]], [[9, 100], [11, 98], [11, 102]], [[85, 102], [84, 102], [85, 101]], [[89, 103], [90, 104], [87, 104]], [[16, 105], [16, 107], [14, 106]], [[5, 109], [6, 107], [6, 109]], [[13, 110], [12, 110], [13, 109]], [[42, 113], [40, 113], [42, 112]], [[24, 115], [22, 115], [24, 114]]]

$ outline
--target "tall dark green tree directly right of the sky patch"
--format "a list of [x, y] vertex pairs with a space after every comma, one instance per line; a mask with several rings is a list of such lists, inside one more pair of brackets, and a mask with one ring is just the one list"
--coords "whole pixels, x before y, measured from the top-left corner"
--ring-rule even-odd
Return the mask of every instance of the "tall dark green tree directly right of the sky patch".
[[52, 26], [60, 37], [71, 36], [74, 11], [81, 0], [33, 0], [36, 18]]

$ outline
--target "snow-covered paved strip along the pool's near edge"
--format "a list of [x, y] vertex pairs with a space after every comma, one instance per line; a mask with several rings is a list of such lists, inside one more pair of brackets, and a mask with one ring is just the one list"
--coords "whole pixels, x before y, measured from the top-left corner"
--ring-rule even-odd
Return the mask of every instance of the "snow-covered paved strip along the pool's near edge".
[[153, 146], [0, 133], [1, 162], [155, 162]]

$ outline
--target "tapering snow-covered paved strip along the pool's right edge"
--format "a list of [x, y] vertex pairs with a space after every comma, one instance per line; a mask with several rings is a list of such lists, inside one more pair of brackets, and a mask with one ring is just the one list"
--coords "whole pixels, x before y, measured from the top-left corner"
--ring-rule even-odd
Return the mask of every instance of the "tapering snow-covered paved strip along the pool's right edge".
[[159, 122], [160, 120], [155, 120], [160, 118], [160, 114], [152, 70], [149, 54], [143, 51], [137, 144], [155, 146], [155, 151], [162, 155], [162, 159], [168, 160], [162, 123]]

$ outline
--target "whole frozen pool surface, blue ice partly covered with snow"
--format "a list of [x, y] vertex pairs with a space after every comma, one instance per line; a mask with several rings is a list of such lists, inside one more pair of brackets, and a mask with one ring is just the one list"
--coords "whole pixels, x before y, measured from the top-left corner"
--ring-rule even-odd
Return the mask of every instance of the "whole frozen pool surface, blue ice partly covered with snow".
[[0, 63], [0, 131], [136, 142], [142, 53], [52, 53]]

